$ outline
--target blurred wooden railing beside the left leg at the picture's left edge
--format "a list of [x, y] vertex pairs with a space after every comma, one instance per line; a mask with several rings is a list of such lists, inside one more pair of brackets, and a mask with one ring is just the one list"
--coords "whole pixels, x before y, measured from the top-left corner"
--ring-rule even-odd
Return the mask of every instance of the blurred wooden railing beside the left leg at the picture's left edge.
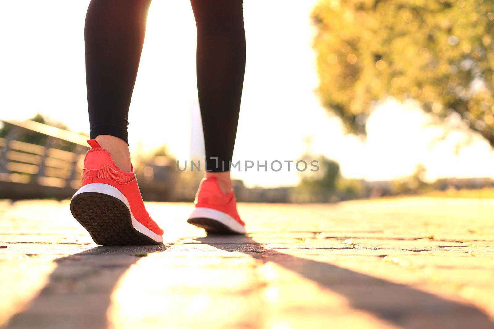
[[[81, 186], [87, 137], [31, 120], [0, 121], [8, 129], [0, 138], [0, 197], [64, 196]], [[26, 136], [44, 145], [23, 142]]]

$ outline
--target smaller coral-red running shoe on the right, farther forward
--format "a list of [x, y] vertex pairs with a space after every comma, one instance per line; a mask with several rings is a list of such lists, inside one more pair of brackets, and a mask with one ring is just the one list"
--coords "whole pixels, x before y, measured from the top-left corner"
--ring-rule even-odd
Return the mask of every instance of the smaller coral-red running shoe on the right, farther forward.
[[233, 190], [224, 194], [216, 177], [202, 180], [194, 203], [196, 209], [187, 222], [204, 228], [208, 233], [245, 234], [245, 223], [237, 213]]

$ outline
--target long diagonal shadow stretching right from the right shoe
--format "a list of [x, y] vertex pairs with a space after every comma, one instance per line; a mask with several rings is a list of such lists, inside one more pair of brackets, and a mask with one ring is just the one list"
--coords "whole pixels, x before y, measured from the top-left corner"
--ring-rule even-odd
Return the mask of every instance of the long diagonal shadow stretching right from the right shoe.
[[195, 240], [224, 251], [248, 255], [252, 255], [252, 247], [257, 246], [257, 252], [263, 253], [264, 262], [275, 262], [346, 297], [353, 308], [370, 312], [402, 328], [494, 328], [488, 315], [474, 306], [326, 262], [263, 250], [250, 237], [239, 236], [232, 240], [231, 237], [209, 236]]

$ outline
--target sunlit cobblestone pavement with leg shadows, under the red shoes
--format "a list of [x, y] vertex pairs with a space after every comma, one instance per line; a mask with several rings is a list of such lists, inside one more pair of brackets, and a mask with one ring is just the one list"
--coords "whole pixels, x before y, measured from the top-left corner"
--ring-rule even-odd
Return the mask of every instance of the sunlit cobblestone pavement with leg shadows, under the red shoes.
[[241, 204], [227, 237], [148, 210], [165, 245], [98, 247], [68, 201], [0, 200], [0, 327], [494, 328], [494, 200]]

